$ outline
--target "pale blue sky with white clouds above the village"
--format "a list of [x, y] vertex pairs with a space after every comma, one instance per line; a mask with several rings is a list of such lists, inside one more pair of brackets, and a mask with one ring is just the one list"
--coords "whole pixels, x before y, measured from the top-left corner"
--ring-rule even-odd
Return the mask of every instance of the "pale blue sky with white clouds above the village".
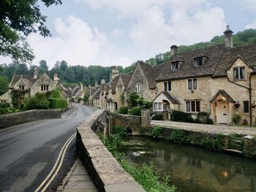
[[[69, 65], [129, 66], [171, 45], [206, 42], [225, 31], [256, 28], [255, 0], [62, 0], [40, 6], [52, 38], [28, 37], [36, 58], [50, 68]], [[0, 63], [10, 58], [0, 58]]]

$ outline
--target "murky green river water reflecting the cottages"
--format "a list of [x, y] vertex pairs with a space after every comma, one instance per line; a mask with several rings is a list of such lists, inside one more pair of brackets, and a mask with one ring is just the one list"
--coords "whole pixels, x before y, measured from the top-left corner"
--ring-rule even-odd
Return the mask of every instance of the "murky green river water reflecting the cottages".
[[118, 150], [136, 164], [152, 161], [181, 191], [256, 192], [255, 161], [143, 137], [124, 140]]

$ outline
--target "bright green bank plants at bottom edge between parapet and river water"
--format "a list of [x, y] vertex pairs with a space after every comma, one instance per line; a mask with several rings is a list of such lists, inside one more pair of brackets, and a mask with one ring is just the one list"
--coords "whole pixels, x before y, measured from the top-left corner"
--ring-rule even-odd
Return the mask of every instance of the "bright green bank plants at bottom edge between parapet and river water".
[[137, 166], [125, 159], [121, 159], [120, 163], [124, 170], [127, 171], [148, 192], [174, 192], [176, 190], [174, 185], [168, 185], [169, 180], [167, 176], [160, 178], [157, 175], [157, 172], [154, 171], [153, 164]]

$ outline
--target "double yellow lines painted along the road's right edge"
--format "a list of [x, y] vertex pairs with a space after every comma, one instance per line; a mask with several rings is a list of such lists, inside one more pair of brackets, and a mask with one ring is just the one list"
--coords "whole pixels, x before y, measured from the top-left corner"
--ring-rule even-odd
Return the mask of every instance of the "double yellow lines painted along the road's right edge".
[[[42, 191], [45, 191], [46, 188], [48, 188], [48, 186], [50, 185], [50, 183], [53, 181], [54, 177], [56, 177], [56, 174], [59, 172], [59, 169], [61, 168], [61, 165], [63, 163], [63, 159], [64, 156], [66, 154], [67, 151], [67, 147], [69, 146], [70, 142], [72, 142], [72, 139], [74, 139], [76, 136], [76, 132], [74, 134], [72, 134], [72, 136], [69, 137], [69, 139], [67, 139], [67, 142], [65, 142], [65, 144], [63, 145], [63, 147], [61, 148], [61, 152], [59, 153], [59, 156], [56, 160], [56, 163], [53, 166], [53, 169], [51, 169], [50, 173], [48, 174], [48, 176], [45, 178], [45, 180], [43, 180], [43, 182], [39, 185], [39, 187], [35, 190], [35, 192], [39, 191], [40, 188], [42, 188], [43, 185], [45, 185], [45, 188], [42, 189]], [[59, 160], [61, 159], [60, 163]], [[53, 174], [54, 170], [56, 169], [56, 166], [59, 164], [56, 172]], [[53, 174], [53, 177], [50, 178], [50, 176]], [[50, 180], [48, 181], [48, 179], [50, 178]], [[46, 183], [48, 181], [48, 183]], [[45, 184], [46, 183], [46, 184]], [[41, 192], [42, 192], [41, 191]]]

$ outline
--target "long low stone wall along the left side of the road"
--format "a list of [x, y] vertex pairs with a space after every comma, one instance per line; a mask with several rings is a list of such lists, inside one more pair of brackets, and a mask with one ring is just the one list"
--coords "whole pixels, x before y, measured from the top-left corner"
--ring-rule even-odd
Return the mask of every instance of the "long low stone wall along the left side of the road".
[[15, 126], [34, 120], [61, 118], [61, 110], [29, 110], [0, 115], [0, 128]]

